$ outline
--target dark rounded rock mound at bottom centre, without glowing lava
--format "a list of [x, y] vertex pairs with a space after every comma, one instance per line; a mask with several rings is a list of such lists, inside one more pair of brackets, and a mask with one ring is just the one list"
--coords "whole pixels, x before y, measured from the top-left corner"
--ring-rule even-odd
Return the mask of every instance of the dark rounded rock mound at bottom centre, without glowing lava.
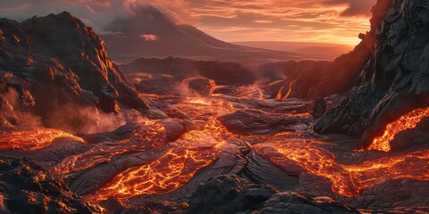
[[239, 177], [214, 177], [200, 185], [188, 213], [359, 213], [334, 202], [299, 193], [282, 192], [269, 185], [254, 185]]

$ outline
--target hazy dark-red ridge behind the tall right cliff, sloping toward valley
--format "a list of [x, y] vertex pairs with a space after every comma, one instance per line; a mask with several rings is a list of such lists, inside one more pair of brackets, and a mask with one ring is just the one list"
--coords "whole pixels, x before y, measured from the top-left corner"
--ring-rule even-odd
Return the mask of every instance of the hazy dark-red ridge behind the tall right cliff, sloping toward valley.
[[[369, 33], [368, 33], [369, 34]], [[359, 72], [372, 53], [374, 40], [361, 37], [362, 42], [333, 62], [273, 62], [257, 67], [258, 78], [271, 82], [266, 87], [274, 98], [279, 90], [291, 88], [290, 97], [313, 99], [343, 93], [358, 83]], [[280, 81], [282, 80], [282, 81]], [[282, 96], [288, 90], [283, 90]]]

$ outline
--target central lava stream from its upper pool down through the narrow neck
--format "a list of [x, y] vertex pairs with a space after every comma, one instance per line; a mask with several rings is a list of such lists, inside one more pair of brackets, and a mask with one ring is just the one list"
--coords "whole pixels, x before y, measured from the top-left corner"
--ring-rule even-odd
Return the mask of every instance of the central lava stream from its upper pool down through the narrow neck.
[[[223, 138], [216, 116], [231, 110], [228, 103], [207, 99], [190, 99], [178, 105], [188, 106], [192, 117], [207, 115], [205, 126], [181, 136], [181, 139], [166, 144], [170, 147], [156, 161], [139, 167], [125, 169], [97, 190], [85, 196], [88, 201], [99, 202], [111, 196], [118, 200], [130, 199], [145, 194], [170, 193], [186, 184], [194, 174], [216, 160], [221, 151]], [[211, 105], [210, 108], [207, 108]], [[207, 111], [211, 112], [207, 114]]]

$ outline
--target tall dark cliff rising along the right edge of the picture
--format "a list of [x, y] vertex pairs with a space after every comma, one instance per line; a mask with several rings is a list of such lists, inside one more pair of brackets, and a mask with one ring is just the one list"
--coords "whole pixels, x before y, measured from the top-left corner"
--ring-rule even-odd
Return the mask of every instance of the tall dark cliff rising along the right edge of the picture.
[[374, 50], [361, 86], [315, 125], [319, 133], [364, 136], [364, 146], [400, 115], [427, 106], [429, 44], [428, 3], [419, 0], [380, 0], [373, 8]]

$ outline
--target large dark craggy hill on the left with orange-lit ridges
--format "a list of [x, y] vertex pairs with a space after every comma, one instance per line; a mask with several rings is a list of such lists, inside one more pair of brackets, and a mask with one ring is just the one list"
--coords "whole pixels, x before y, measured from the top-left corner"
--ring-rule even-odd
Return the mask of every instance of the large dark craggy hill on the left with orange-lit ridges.
[[70, 13], [22, 24], [2, 19], [0, 31], [0, 71], [10, 73], [2, 90], [13, 88], [21, 103], [29, 103], [22, 110], [35, 111], [46, 126], [54, 126], [49, 118], [67, 103], [105, 112], [148, 109], [107, 57], [103, 40]]

